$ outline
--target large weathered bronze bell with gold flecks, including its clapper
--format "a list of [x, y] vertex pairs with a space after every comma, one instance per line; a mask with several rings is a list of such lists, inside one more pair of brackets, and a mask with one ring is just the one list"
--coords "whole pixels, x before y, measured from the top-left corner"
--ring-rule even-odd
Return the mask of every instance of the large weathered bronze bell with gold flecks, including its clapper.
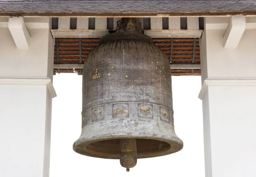
[[120, 159], [169, 155], [183, 142], [173, 126], [169, 61], [135, 18], [122, 18], [84, 62], [79, 154]]

